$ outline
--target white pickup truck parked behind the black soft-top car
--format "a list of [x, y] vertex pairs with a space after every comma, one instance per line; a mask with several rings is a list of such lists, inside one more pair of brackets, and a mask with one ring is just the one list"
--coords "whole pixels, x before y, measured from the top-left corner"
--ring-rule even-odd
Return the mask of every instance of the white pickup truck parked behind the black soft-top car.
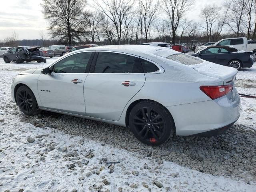
[[[246, 37], [227, 38], [219, 40], [212, 46], [230, 46], [238, 50], [253, 52], [253, 60], [256, 61], [256, 40], [247, 40]], [[208, 46], [201, 46], [198, 50], [202, 50]], [[198, 52], [198, 50], [196, 52]]]

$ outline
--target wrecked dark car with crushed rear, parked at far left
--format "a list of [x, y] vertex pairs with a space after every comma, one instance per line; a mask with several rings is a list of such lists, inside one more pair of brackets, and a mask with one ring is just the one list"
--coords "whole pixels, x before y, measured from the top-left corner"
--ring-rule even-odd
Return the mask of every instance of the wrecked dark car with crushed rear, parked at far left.
[[16, 63], [31, 61], [46, 63], [46, 58], [43, 57], [42, 51], [36, 47], [14, 47], [8, 50], [7, 53], [4, 53], [3, 58], [6, 63], [11, 61]]

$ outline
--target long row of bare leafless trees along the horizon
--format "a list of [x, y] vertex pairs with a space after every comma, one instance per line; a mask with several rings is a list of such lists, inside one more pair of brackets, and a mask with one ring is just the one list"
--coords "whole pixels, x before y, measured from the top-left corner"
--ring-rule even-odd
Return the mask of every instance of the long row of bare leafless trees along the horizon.
[[[40, 40], [33, 43], [112, 45], [163, 41], [192, 48], [225, 37], [256, 38], [256, 0], [206, 5], [200, 10], [200, 20], [192, 20], [188, 11], [193, 9], [194, 1], [92, 0], [92, 11], [85, 0], [43, 0], [51, 39], [46, 40], [40, 31]], [[15, 43], [22, 43], [15, 32], [2, 42]]]

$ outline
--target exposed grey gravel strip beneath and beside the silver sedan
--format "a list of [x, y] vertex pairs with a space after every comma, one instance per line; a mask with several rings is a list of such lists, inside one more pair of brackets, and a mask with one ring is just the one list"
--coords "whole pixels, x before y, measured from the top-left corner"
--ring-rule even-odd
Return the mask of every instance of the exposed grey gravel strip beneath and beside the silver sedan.
[[[256, 180], [256, 132], [242, 124], [234, 124], [220, 136], [173, 136], [162, 146], [153, 147], [139, 142], [128, 128], [112, 124], [46, 111], [32, 117], [22, 113], [18, 116], [24, 122], [39, 122], [67, 134], [82, 135], [102, 145], [135, 152], [138, 158], [166, 160], [203, 173], [232, 176], [248, 183]], [[92, 156], [93, 152], [88, 152], [87, 157]]]

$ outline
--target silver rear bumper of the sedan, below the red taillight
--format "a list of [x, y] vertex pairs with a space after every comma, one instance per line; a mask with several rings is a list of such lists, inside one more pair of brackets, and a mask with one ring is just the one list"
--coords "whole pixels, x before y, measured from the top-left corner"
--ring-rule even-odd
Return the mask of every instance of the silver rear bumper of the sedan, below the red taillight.
[[221, 133], [238, 120], [240, 97], [234, 88], [232, 101], [224, 96], [216, 100], [169, 106], [167, 109], [174, 119], [177, 135], [206, 133], [210, 136]]

